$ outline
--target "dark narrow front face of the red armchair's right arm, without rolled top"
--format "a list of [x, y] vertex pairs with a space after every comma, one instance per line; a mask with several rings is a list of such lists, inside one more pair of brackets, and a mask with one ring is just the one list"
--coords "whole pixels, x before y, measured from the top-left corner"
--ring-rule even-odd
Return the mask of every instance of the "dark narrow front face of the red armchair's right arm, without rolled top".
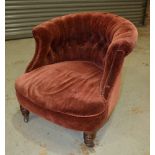
[[132, 49], [133, 46], [131, 42], [125, 39], [119, 39], [110, 44], [105, 56], [103, 77], [100, 83], [101, 95], [105, 100], [108, 99], [115, 80], [121, 71], [125, 56], [129, 54]]

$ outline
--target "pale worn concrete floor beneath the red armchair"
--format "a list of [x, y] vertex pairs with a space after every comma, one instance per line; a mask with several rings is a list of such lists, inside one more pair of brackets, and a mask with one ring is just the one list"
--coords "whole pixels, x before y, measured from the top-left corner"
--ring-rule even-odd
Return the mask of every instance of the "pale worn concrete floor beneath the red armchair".
[[35, 114], [23, 122], [14, 81], [34, 53], [33, 39], [6, 42], [6, 155], [149, 155], [149, 30], [139, 28], [136, 49], [125, 61], [119, 103], [98, 132], [94, 149], [82, 132], [65, 129]]

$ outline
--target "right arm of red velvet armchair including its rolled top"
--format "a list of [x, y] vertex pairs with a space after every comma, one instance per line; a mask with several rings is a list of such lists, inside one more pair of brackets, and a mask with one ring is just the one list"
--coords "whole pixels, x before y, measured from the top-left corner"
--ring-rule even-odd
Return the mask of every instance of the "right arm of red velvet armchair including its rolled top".
[[104, 71], [100, 83], [101, 95], [108, 99], [119, 75], [125, 56], [135, 47], [138, 32], [129, 21], [117, 23], [108, 33], [111, 43], [104, 58]]

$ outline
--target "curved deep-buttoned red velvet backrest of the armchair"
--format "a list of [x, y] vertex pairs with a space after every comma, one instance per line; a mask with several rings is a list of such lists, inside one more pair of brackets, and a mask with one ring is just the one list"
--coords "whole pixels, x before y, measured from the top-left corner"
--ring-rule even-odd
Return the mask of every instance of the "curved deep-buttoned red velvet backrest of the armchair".
[[72, 60], [92, 61], [102, 66], [114, 36], [116, 40], [122, 37], [128, 40], [133, 30], [131, 22], [110, 13], [78, 13], [54, 18], [34, 27], [37, 46], [28, 69]]

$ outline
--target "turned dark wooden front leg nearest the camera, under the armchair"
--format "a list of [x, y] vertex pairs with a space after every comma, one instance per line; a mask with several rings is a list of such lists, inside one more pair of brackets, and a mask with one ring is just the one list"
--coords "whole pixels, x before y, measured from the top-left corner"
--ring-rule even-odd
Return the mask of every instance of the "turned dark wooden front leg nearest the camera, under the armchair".
[[84, 132], [83, 133], [83, 138], [84, 138], [84, 143], [88, 147], [94, 147], [94, 139], [96, 137], [96, 132]]

